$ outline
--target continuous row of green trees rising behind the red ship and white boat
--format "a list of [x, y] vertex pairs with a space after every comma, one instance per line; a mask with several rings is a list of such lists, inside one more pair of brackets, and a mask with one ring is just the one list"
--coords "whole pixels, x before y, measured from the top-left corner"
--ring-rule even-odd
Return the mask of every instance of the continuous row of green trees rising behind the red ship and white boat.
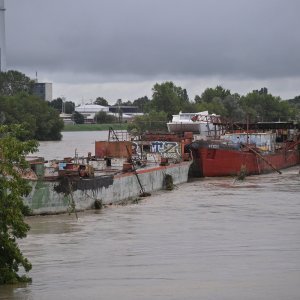
[[[231, 93], [222, 86], [207, 88], [200, 96], [196, 95], [190, 101], [185, 89], [177, 87], [173, 82], [155, 84], [152, 100], [146, 103], [146, 116], [137, 117], [129, 126], [131, 130], [143, 132], [159, 127], [166, 129], [166, 122], [173, 114], [182, 112], [208, 111], [227, 118], [231, 122], [300, 122], [300, 96], [291, 100], [281, 100], [268, 93], [266, 88], [256, 90], [241, 96]], [[149, 116], [151, 118], [149, 119]], [[155, 122], [157, 122], [155, 124]]]

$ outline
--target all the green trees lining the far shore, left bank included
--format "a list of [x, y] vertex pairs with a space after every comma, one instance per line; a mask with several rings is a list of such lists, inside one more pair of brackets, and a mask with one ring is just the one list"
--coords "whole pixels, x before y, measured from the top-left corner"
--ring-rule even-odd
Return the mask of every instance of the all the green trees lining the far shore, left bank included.
[[[0, 124], [23, 123], [27, 129], [24, 138], [38, 140], [59, 140], [63, 122], [59, 114], [72, 114], [75, 123], [83, 123], [84, 117], [75, 111], [75, 103], [57, 98], [51, 102], [42, 101], [32, 94], [34, 81], [18, 71], [0, 73]], [[108, 106], [109, 101], [98, 97], [93, 104]], [[129, 129], [165, 129], [172, 115], [182, 112], [208, 111], [221, 115], [232, 122], [297, 121], [300, 120], [300, 96], [282, 100], [268, 93], [266, 88], [251, 91], [246, 95], [232, 93], [222, 86], [207, 88], [201, 95], [190, 99], [186, 89], [167, 81], [156, 83], [152, 98], [147, 96], [133, 101], [118, 99], [117, 107], [135, 106], [144, 113], [129, 125]], [[95, 123], [122, 121], [119, 117], [104, 112], [95, 115]]]

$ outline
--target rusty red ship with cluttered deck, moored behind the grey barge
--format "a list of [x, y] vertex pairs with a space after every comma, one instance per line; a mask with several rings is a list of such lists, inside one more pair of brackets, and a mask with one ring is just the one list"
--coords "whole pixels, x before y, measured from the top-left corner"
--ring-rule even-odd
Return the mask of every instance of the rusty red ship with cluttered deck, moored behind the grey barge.
[[[300, 136], [293, 123], [247, 125], [215, 139], [193, 141], [194, 169], [198, 176], [262, 174], [299, 164]], [[258, 129], [258, 127], [261, 127]]]

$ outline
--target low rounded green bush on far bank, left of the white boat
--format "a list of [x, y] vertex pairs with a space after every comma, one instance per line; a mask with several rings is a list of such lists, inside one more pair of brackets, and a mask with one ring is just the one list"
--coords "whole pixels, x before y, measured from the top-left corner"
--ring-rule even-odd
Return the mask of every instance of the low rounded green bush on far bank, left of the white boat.
[[137, 116], [128, 125], [128, 130], [137, 134], [145, 131], [167, 131], [168, 115], [161, 111], [151, 111], [149, 114]]

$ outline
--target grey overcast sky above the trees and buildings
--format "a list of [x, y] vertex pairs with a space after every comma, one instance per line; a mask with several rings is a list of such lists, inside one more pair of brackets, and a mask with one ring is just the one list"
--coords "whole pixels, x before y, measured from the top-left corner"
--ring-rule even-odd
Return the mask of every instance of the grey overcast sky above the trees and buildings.
[[111, 104], [173, 81], [300, 95], [299, 0], [5, 0], [7, 67]]

